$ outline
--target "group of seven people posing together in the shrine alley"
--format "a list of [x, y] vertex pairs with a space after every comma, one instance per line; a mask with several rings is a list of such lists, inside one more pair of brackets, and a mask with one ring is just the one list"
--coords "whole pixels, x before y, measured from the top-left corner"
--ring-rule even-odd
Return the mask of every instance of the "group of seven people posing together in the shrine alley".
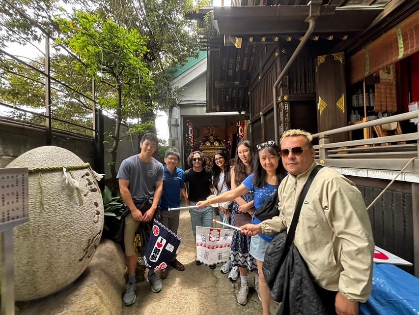
[[[179, 152], [175, 149], [166, 152], [164, 167], [152, 158], [157, 143], [154, 134], [144, 135], [141, 153], [125, 159], [117, 175], [121, 195], [130, 210], [124, 223], [129, 272], [123, 296], [125, 305], [136, 299], [138, 254], [133, 250], [136, 229], [140, 222], [152, 221], [161, 199], [163, 224], [177, 233], [179, 212], [167, 209], [178, 207], [183, 194], [188, 205], [196, 206], [190, 209], [194, 237], [196, 226], [213, 226], [211, 204], [218, 203], [221, 221], [233, 225], [237, 225], [235, 221], [240, 216], [251, 215], [251, 223], [234, 230], [230, 259], [221, 272], [231, 269], [232, 280], [240, 274], [237, 302], [241, 305], [247, 302], [248, 273], [254, 272], [254, 287], [262, 302], [263, 315], [270, 314], [270, 289], [263, 275], [265, 252], [275, 235], [289, 228], [301, 191], [317, 165], [311, 135], [299, 129], [288, 130], [282, 134], [280, 148], [274, 141], [253, 146], [242, 140], [237, 145], [234, 165], [230, 167], [225, 153], [218, 151], [212, 170], [205, 168], [206, 157], [196, 151], [187, 159], [191, 168], [186, 172], [177, 168]], [[216, 196], [208, 198], [213, 194]], [[272, 219], [258, 220], [258, 209], [273, 194], [278, 194], [278, 213]], [[328, 313], [358, 314], [359, 303], [365, 302], [371, 292], [374, 242], [363, 197], [355, 184], [337, 171], [323, 167], [304, 199], [294, 244]], [[197, 259], [196, 264], [201, 262]], [[184, 270], [177, 259], [170, 265]], [[161, 271], [160, 278], [167, 274], [168, 269]], [[162, 289], [154, 270], [148, 272], [147, 280], [153, 292]]]

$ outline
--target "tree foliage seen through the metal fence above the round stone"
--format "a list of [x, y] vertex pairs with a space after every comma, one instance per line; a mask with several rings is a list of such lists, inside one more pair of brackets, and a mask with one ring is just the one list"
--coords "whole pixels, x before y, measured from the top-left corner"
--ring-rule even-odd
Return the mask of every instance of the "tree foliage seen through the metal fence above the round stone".
[[[85, 71], [75, 69], [77, 63], [68, 55], [57, 54], [51, 57], [51, 73], [56, 80], [52, 81], [51, 87], [51, 116], [54, 119], [52, 127], [91, 135], [91, 130], [80, 127], [92, 127], [91, 83], [84, 79]], [[29, 61], [28, 65], [0, 56], [0, 101], [16, 108], [34, 109], [43, 114], [45, 75], [41, 69], [44, 57]], [[39, 125], [45, 124], [43, 116], [18, 109], [13, 110], [10, 116]]]

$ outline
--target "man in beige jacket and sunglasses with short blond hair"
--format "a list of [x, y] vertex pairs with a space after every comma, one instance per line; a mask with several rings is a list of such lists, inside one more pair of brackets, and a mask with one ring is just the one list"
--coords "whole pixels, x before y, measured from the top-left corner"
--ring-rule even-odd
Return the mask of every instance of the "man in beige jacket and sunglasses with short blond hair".
[[[299, 129], [283, 133], [280, 155], [289, 175], [278, 189], [279, 216], [242, 226], [246, 235], [288, 229], [301, 191], [317, 165], [312, 136]], [[359, 302], [371, 293], [374, 240], [355, 184], [331, 168], [320, 169], [303, 202], [294, 244], [329, 313], [358, 315]]]

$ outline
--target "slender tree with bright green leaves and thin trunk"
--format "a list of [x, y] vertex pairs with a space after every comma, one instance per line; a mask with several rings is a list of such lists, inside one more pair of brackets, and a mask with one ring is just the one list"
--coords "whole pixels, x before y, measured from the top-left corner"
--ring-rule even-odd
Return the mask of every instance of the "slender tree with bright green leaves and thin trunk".
[[154, 93], [154, 82], [144, 62], [144, 55], [148, 52], [147, 38], [135, 29], [121, 27], [112, 18], [104, 19], [96, 13], [77, 11], [68, 18], [56, 18], [56, 22], [63, 33], [56, 43], [69, 47], [84, 63], [89, 76], [111, 87], [109, 95], [102, 94], [98, 103], [115, 113], [110, 165], [115, 193], [115, 161], [121, 140], [121, 122], [128, 120], [133, 113], [149, 111], [143, 99]]

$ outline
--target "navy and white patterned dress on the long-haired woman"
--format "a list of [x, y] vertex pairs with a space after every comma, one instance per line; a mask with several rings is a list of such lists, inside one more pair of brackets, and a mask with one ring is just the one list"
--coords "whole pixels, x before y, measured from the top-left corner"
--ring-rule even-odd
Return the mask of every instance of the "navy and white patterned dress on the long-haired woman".
[[[246, 202], [253, 200], [253, 192], [248, 192], [242, 196]], [[239, 212], [239, 205], [234, 201], [233, 209], [231, 211], [231, 224], [234, 225], [236, 213]], [[241, 234], [234, 230], [233, 240], [230, 247], [230, 262], [232, 266], [247, 268], [249, 272], [257, 270], [256, 260], [249, 253], [250, 250], [250, 236]]]

